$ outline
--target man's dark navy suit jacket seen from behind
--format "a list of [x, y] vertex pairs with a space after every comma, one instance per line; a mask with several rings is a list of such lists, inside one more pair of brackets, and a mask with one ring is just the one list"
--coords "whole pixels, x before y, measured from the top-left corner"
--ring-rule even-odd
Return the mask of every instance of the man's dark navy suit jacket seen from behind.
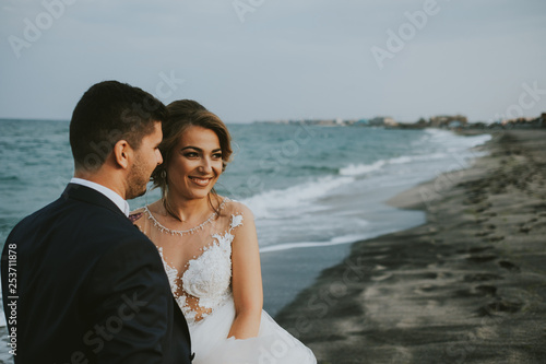
[[16, 364], [191, 362], [157, 249], [92, 188], [69, 184], [21, 221], [1, 270]]

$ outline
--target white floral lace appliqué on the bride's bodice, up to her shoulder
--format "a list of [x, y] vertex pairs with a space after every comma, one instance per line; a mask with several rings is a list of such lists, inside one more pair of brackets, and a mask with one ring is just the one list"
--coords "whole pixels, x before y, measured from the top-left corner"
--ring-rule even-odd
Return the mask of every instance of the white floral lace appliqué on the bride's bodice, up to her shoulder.
[[[201, 248], [203, 253], [186, 265], [186, 271], [180, 280], [178, 270], [166, 262], [163, 248], [157, 248], [170, 289], [188, 325], [199, 322], [232, 298], [232, 243], [234, 239], [232, 233], [239, 225], [242, 225], [242, 215], [233, 214], [228, 230], [223, 235], [212, 235], [213, 242]], [[181, 290], [177, 282], [181, 282]], [[187, 300], [190, 296], [198, 298], [198, 307], [190, 307]]]

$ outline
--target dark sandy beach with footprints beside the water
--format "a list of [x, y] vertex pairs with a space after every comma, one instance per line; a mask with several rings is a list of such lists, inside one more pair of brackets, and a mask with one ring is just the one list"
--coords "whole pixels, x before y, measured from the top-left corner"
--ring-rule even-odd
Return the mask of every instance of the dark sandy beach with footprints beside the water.
[[355, 243], [276, 319], [319, 363], [546, 363], [546, 131], [388, 203], [424, 225]]

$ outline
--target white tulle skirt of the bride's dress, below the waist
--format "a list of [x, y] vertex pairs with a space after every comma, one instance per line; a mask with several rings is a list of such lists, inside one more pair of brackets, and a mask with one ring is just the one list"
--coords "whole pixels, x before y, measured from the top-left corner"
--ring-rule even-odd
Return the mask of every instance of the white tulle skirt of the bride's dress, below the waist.
[[316, 364], [311, 350], [262, 310], [258, 337], [227, 339], [235, 318], [233, 300], [190, 326], [193, 364]]

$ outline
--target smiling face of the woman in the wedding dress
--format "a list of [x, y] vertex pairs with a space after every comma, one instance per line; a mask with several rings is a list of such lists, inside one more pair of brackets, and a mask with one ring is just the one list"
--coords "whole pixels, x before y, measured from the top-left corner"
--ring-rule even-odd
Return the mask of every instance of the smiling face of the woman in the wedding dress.
[[186, 129], [167, 166], [169, 190], [185, 199], [205, 198], [222, 174], [222, 150], [211, 129]]

